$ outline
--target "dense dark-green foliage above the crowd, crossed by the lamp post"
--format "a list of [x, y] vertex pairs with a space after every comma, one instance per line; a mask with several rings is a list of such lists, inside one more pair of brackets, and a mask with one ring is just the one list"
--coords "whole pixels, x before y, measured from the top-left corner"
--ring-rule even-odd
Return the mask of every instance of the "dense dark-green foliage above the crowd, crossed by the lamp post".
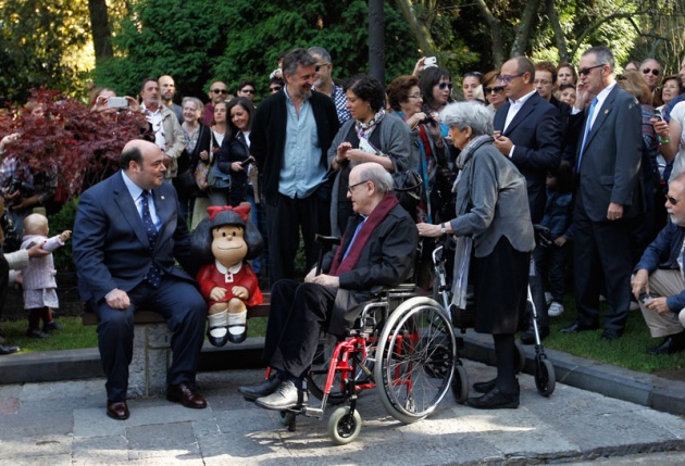
[[[281, 52], [326, 48], [334, 75], [368, 71], [365, 0], [146, 0], [114, 26], [115, 56], [99, 64], [96, 81], [133, 95], [146, 76], [171, 74], [178, 96], [204, 96], [214, 79], [235, 91], [246, 77], [265, 93]], [[399, 11], [385, 4], [386, 76], [408, 74], [420, 54]], [[259, 93], [259, 92], [258, 92]]]

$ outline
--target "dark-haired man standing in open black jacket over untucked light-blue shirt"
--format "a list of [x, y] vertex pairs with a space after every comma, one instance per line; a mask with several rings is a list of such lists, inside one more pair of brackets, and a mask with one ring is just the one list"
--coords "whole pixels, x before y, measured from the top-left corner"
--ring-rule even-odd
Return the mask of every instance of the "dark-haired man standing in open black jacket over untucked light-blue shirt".
[[259, 167], [269, 225], [269, 281], [295, 275], [300, 229], [307, 266], [316, 262], [314, 236], [329, 229], [327, 152], [338, 133], [328, 96], [312, 92], [319, 62], [304, 49], [283, 59], [285, 87], [260, 103], [250, 149]]

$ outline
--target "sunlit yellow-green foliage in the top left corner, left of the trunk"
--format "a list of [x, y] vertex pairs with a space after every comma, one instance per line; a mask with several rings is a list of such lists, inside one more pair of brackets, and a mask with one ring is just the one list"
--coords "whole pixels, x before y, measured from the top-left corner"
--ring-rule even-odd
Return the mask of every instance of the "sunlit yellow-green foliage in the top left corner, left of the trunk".
[[76, 93], [84, 70], [67, 56], [89, 39], [85, 0], [0, 0], [0, 95], [23, 102], [30, 88]]

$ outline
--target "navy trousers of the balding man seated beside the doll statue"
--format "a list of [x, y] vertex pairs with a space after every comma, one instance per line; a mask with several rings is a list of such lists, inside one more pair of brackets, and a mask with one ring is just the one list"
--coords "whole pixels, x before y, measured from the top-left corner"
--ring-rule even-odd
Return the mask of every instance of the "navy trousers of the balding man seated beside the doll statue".
[[107, 376], [107, 398], [126, 400], [128, 365], [133, 358], [134, 314], [147, 308], [160, 313], [174, 332], [171, 341], [173, 361], [166, 373], [169, 385], [195, 383], [204, 340], [207, 304], [189, 281], [165, 276], [159, 288], [146, 281], [128, 293], [132, 305], [125, 310], [110, 307], [104, 300], [94, 306], [98, 313], [98, 347]]

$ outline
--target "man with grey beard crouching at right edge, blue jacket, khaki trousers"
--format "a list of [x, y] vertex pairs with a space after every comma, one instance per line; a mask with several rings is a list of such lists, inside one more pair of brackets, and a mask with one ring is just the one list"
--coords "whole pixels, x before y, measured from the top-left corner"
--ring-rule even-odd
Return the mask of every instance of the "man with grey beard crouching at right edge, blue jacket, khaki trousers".
[[664, 338], [661, 344], [648, 349], [648, 354], [685, 351], [685, 175], [669, 185], [665, 205], [671, 222], [647, 247], [631, 279], [649, 332], [653, 338]]

